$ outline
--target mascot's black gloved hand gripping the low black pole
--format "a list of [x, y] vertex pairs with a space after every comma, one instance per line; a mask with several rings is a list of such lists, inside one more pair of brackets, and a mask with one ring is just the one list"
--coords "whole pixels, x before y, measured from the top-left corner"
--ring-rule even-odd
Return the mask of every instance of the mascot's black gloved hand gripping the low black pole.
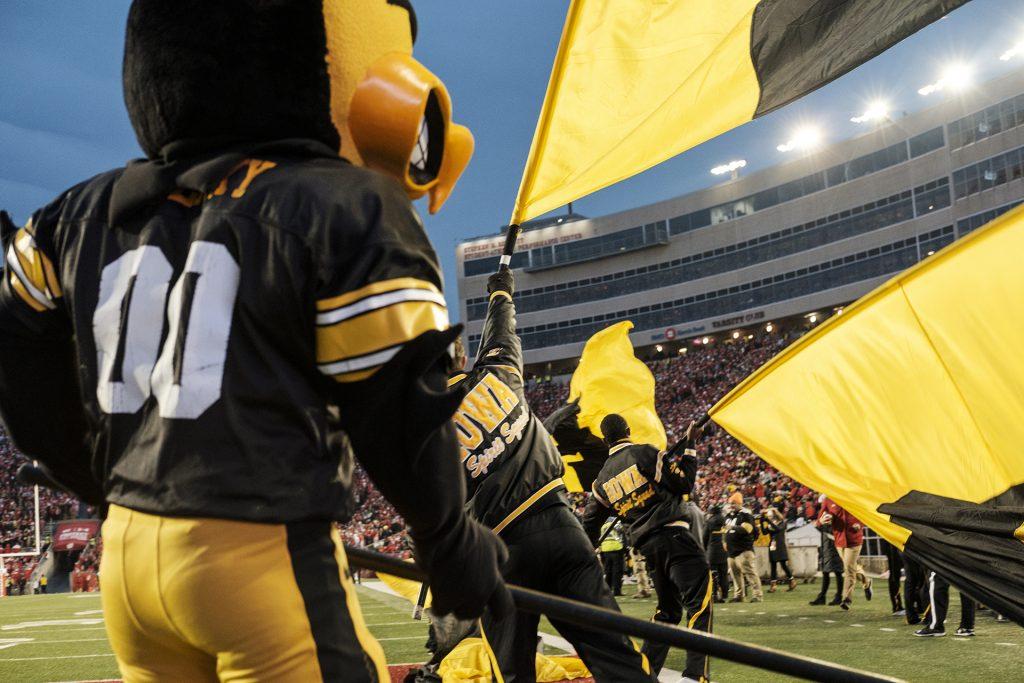
[[442, 539], [420, 541], [414, 536], [414, 541], [416, 559], [430, 577], [433, 613], [476, 618], [486, 606], [502, 618], [515, 610], [501, 572], [509, 552], [489, 528], [463, 517]]

